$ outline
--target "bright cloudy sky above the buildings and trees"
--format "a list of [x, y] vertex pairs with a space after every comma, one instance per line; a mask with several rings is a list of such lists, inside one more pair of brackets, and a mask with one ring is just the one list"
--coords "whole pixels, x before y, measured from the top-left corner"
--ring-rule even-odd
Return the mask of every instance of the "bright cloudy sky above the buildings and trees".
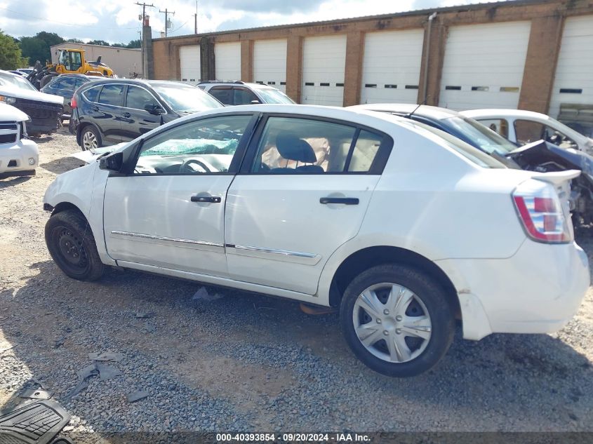
[[[152, 36], [164, 31], [164, 11], [171, 15], [169, 36], [194, 33], [195, 0], [140, 0], [147, 8]], [[484, 3], [486, 0], [199, 0], [198, 32], [398, 13], [418, 9]], [[65, 39], [128, 43], [140, 38], [142, 7], [133, 0], [0, 0], [0, 29], [11, 36], [55, 32]]]

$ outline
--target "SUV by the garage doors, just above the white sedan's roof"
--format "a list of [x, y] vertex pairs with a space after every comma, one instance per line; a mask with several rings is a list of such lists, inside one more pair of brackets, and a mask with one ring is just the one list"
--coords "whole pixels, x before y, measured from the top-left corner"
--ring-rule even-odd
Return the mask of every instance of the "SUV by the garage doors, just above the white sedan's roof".
[[244, 81], [201, 81], [198, 87], [216, 97], [223, 105], [253, 105], [257, 103], [291, 104], [294, 101], [281, 90], [262, 83]]

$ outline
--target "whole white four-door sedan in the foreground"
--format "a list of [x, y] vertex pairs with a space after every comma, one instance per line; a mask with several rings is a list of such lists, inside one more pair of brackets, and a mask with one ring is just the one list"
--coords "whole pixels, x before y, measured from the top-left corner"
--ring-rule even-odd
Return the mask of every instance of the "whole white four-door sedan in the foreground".
[[589, 287], [578, 171], [507, 169], [389, 114], [213, 109], [58, 176], [46, 243], [68, 276], [149, 271], [340, 308], [354, 354], [428, 370], [466, 339], [561, 328]]

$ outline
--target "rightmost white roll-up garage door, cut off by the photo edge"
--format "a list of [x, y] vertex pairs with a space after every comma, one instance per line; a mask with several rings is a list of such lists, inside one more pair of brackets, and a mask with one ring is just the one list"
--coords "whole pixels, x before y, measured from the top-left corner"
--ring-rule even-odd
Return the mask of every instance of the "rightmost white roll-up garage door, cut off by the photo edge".
[[561, 107], [564, 114], [567, 108], [588, 109], [593, 122], [593, 15], [564, 22], [549, 115], [557, 118]]

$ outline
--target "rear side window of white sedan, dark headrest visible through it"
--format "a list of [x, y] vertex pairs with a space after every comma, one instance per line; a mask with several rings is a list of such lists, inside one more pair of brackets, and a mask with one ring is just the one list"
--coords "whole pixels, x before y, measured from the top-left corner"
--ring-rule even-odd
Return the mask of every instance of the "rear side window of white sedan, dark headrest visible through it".
[[[329, 121], [270, 117], [262, 133], [252, 173], [380, 173], [381, 147], [391, 139]], [[382, 165], [379, 165], [382, 163]]]

